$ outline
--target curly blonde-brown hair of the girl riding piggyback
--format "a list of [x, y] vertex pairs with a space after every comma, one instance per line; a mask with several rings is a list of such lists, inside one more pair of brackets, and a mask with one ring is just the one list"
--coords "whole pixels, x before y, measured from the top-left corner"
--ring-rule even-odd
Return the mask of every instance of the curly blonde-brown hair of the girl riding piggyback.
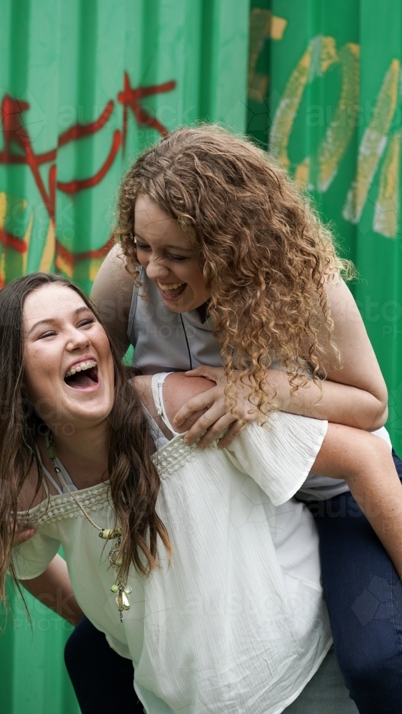
[[242, 381], [251, 378], [249, 397], [264, 414], [275, 408], [266, 383], [273, 357], [286, 368], [292, 391], [307, 383], [307, 369], [317, 382], [325, 376], [320, 325], [331, 341], [333, 322], [323, 283], [347, 261], [336, 256], [331, 231], [266, 151], [203, 125], [177, 129], [139, 156], [121, 183], [116, 226], [137, 281], [139, 194], [179, 221], [199, 251], [232, 410], [235, 370]]

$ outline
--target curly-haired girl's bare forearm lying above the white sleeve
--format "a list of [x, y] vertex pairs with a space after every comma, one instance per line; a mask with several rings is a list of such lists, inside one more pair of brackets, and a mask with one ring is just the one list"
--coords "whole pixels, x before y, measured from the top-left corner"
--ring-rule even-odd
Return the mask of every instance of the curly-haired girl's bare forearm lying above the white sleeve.
[[308, 380], [305, 387], [291, 393], [291, 384], [285, 372], [271, 369], [267, 382], [273, 401], [281, 411], [316, 419], [326, 419], [334, 424], [344, 424], [366, 431], [375, 431], [384, 425], [388, 410], [383, 396], [363, 389], [323, 380], [319, 384]]

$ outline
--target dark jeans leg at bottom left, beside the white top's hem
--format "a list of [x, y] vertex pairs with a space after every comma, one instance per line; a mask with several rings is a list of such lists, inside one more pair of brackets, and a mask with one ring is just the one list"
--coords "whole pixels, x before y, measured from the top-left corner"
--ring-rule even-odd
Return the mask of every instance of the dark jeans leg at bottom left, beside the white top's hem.
[[133, 663], [112, 650], [86, 617], [67, 640], [64, 660], [81, 714], [144, 714], [134, 691]]

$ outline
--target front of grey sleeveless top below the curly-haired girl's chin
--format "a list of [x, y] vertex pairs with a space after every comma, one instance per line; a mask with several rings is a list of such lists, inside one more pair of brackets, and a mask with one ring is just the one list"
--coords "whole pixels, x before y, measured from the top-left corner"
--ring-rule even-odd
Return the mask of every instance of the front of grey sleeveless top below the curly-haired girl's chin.
[[201, 364], [221, 367], [221, 346], [213, 336], [211, 318], [203, 322], [197, 310], [171, 312], [144, 270], [141, 283], [139, 291], [134, 287], [127, 330], [134, 366], [145, 374], [182, 372]]

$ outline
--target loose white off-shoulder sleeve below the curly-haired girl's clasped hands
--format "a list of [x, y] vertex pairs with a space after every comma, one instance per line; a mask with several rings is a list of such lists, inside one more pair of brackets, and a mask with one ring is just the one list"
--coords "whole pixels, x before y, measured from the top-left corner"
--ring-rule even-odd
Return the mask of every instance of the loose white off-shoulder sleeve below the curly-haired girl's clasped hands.
[[306, 481], [327, 428], [327, 421], [277, 411], [264, 426], [246, 426], [224, 453], [280, 506]]

